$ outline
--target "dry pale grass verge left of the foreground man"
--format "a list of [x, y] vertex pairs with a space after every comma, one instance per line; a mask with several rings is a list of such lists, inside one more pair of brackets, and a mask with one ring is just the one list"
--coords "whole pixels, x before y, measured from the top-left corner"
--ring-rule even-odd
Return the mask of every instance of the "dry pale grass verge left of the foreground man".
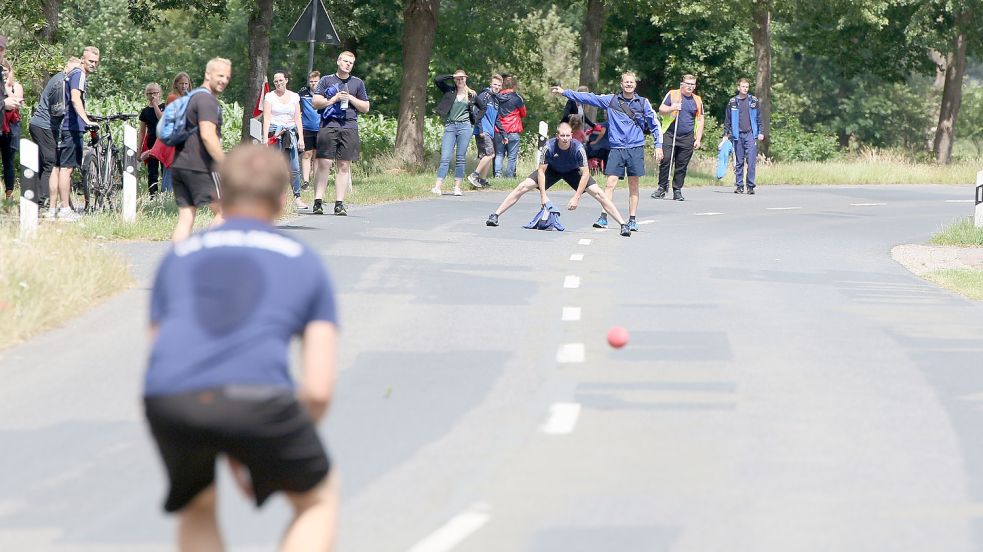
[[0, 226], [0, 349], [53, 328], [131, 282], [126, 263], [67, 228], [29, 240]]

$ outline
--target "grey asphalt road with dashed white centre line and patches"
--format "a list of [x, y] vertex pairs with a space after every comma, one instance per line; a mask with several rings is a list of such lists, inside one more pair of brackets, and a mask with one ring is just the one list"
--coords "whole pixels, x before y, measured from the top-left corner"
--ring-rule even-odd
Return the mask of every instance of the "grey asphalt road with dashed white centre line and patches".
[[[497, 192], [288, 225], [340, 290], [339, 550], [983, 549], [983, 304], [889, 256], [972, 188], [686, 196], [630, 239], [586, 197], [488, 228]], [[0, 352], [0, 550], [173, 547], [139, 402], [163, 248], [121, 247], [137, 288]], [[282, 499], [220, 494], [230, 549], [271, 550]]]

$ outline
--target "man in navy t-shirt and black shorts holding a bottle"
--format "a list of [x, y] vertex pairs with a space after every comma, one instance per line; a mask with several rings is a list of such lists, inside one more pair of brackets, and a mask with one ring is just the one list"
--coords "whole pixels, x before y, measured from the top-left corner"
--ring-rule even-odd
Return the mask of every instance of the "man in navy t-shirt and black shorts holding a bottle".
[[[340, 116], [321, 122], [317, 134], [317, 186], [314, 190], [314, 214], [324, 214], [324, 190], [328, 187], [331, 162], [337, 161], [335, 171], [334, 214], [346, 216], [345, 193], [352, 181], [352, 161], [358, 160], [361, 143], [358, 138], [358, 114], [369, 112], [369, 96], [362, 79], [352, 76], [355, 54], [342, 52], [338, 56], [338, 72], [321, 79], [314, 90], [314, 108], [324, 109], [340, 104]], [[330, 87], [337, 94], [325, 97]]]

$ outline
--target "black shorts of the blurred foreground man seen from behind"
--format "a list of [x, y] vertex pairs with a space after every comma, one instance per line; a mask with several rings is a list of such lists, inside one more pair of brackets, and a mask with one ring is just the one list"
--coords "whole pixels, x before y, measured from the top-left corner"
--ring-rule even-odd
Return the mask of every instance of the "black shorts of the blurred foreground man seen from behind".
[[331, 469], [310, 416], [282, 389], [240, 388], [144, 398], [170, 480], [164, 510], [177, 512], [215, 481], [220, 454], [249, 469], [256, 505], [302, 493]]

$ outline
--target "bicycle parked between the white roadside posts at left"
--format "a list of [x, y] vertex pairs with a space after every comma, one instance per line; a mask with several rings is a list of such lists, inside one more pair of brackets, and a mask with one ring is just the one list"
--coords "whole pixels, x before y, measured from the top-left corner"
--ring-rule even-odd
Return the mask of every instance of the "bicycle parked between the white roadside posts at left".
[[77, 203], [83, 205], [82, 212], [89, 213], [104, 209], [115, 209], [119, 205], [119, 192], [123, 187], [122, 148], [113, 140], [109, 123], [137, 118], [136, 113], [97, 116], [89, 119], [102, 123], [89, 127], [89, 143], [82, 150], [82, 166], [72, 181], [72, 208], [78, 211]]

